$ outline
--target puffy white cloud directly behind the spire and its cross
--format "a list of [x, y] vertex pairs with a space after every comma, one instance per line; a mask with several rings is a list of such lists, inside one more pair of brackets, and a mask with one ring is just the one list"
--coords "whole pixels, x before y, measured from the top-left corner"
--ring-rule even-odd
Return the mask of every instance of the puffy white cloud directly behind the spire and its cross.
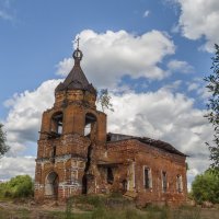
[[[159, 31], [136, 36], [126, 31], [99, 34], [87, 30], [79, 35], [84, 54], [82, 68], [97, 87], [115, 87], [125, 74], [161, 80], [166, 72], [158, 65], [175, 53], [170, 36]], [[65, 58], [58, 64], [58, 74], [68, 74], [72, 66], [72, 58]]]

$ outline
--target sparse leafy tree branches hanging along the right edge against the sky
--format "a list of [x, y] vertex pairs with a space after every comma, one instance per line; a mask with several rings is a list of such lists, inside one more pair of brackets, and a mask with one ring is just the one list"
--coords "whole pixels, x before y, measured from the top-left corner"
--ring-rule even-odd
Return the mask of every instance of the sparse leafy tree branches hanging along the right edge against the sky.
[[214, 143], [209, 145], [207, 142], [210, 150], [210, 160], [212, 161], [211, 168], [219, 169], [219, 46], [216, 44], [215, 48], [216, 54], [211, 58], [212, 73], [204, 79], [207, 82], [206, 88], [211, 93], [207, 103], [208, 114], [205, 117], [208, 118], [215, 129]]

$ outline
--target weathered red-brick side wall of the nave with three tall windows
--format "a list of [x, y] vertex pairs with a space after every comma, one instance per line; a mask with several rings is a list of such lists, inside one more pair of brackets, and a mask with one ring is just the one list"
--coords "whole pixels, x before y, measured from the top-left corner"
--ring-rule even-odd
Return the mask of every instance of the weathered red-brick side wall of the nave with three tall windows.
[[[181, 204], [186, 200], [187, 178], [185, 157], [162, 151], [137, 140], [124, 140], [107, 145], [107, 158], [119, 161], [114, 187], [126, 177], [127, 191], [135, 193], [141, 205], [147, 203]], [[145, 168], [150, 170], [151, 187], [145, 187]], [[166, 191], [162, 188], [162, 171], [166, 173]], [[177, 176], [182, 176], [182, 191], [177, 188]], [[116, 186], [117, 184], [117, 186]], [[131, 194], [130, 193], [130, 194]]]

